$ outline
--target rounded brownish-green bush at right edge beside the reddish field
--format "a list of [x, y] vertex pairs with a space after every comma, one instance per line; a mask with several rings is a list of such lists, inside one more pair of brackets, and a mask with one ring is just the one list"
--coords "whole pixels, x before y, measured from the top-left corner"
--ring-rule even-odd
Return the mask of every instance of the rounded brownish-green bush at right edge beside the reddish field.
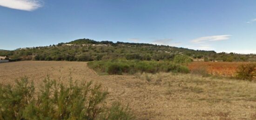
[[237, 68], [236, 77], [243, 80], [252, 80], [256, 76], [256, 64], [242, 64]]

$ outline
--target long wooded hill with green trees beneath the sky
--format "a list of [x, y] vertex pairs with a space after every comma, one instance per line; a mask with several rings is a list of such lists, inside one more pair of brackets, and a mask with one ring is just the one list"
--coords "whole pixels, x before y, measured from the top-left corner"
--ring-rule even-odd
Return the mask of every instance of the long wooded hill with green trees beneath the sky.
[[255, 54], [216, 53], [215, 51], [191, 50], [166, 45], [124, 43], [77, 39], [68, 43], [19, 48], [14, 51], [0, 51], [0, 56], [15, 60], [46, 61], [94, 61], [106, 59], [173, 60], [175, 55], [186, 55], [200, 61], [256, 61]]

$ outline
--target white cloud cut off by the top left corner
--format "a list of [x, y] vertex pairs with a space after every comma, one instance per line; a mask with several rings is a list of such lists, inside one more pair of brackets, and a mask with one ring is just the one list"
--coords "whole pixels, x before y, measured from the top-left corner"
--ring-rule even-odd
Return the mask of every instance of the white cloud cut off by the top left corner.
[[0, 0], [0, 6], [24, 10], [33, 11], [42, 6], [40, 0]]

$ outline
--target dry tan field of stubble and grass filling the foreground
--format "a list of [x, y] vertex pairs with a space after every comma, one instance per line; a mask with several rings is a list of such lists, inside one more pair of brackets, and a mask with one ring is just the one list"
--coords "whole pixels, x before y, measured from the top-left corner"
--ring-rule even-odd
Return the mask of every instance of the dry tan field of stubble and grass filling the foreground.
[[2, 84], [27, 76], [40, 85], [47, 75], [101, 83], [108, 103], [129, 104], [140, 120], [250, 120], [256, 114], [255, 82], [173, 73], [99, 76], [86, 62], [0, 63]]

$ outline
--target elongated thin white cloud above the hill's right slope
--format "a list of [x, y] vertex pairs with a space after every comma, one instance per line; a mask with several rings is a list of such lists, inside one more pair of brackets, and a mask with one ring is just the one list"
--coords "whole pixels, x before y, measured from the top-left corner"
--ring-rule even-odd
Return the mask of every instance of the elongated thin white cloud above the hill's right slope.
[[229, 39], [231, 35], [216, 35], [216, 36], [206, 36], [201, 38], [195, 38], [191, 40], [192, 43], [205, 43], [207, 41], [220, 41], [220, 40], [226, 40]]

